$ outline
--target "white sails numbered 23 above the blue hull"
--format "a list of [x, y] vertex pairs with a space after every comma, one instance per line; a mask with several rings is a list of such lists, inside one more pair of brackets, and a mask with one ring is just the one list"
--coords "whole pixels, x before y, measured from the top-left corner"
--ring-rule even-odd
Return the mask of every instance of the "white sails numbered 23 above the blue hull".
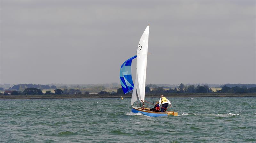
[[136, 80], [135, 80], [134, 89], [132, 92], [131, 105], [133, 105], [133, 103], [137, 100], [136, 91], [138, 93], [140, 102], [144, 102], [144, 99], [145, 99], [145, 84], [146, 84], [147, 58], [148, 58], [148, 34], [149, 34], [149, 25], [143, 32], [140, 38], [138, 49], [137, 49]]

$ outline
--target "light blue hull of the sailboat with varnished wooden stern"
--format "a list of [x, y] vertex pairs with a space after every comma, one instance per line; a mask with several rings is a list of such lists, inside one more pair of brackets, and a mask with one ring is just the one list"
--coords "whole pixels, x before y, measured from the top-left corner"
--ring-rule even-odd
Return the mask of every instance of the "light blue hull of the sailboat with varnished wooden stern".
[[173, 116], [178, 116], [178, 112], [174, 111], [168, 111], [168, 112], [153, 112], [149, 111], [149, 108], [145, 108], [145, 110], [142, 110], [140, 107], [132, 107], [132, 112], [133, 113], [142, 113], [147, 116], [152, 116], [152, 117], [159, 117], [159, 116], [168, 116], [168, 115], [173, 115]]

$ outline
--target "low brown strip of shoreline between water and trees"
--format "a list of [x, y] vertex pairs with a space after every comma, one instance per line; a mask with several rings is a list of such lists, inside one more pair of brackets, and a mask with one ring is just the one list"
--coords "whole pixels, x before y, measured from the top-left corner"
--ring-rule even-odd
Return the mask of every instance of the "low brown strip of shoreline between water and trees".
[[[159, 97], [160, 94], [145, 95], [145, 97]], [[131, 94], [109, 95], [109, 94], [89, 94], [89, 95], [1, 95], [0, 99], [65, 99], [65, 98], [131, 98]], [[232, 94], [232, 93], [180, 93], [164, 94], [165, 97], [256, 97], [256, 93]]]

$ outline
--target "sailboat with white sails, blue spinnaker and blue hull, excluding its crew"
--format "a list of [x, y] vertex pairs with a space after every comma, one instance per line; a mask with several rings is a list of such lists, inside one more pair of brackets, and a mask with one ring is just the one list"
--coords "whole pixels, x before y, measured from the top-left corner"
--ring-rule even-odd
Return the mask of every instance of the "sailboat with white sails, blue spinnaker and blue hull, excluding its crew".
[[[165, 111], [165, 112], [154, 112], [150, 111], [149, 108], [145, 107], [145, 83], [146, 83], [146, 71], [147, 71], [147, 59], [148, 59], [148, 35], [149, 35], [149, 25], [146, 27], [145, 31], [143, 32], [138, 48], [137, 54], [131, 57], [130, 59], [126, 60], [120, 68], [120, 82], [124, 94], [129, 93], [132, 91], [132, 112], [133, 113], [142, 113], [147, 116], [168, 116], [174, 115], [178, 116], [177, 112], [174, 111]], [[133, 83], [132, 81], [132, 60], [137, 58], [136, 64], [136, 79]], [[133, 106], [134, 102], [137, 101], [137, 95], [139, 98], [140, 103], [143, 104], [142, 107]]]

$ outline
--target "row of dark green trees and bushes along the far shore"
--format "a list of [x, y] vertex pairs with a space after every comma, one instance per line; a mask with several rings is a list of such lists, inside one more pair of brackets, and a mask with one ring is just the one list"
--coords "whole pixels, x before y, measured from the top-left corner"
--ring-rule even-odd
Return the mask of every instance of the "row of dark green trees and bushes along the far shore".
[[[251, 87], [247, 88], [246, 86], [242, 87], [228, 87], [228, 86], [223, 86], [221, 90], [217, 90], [217, 93], [254, 93], [256, 92], [256, 87]], [[186, 86], [183, 83], [179, 85], [179, 87], [175, 88], [164, 88], [164, 87], [159, 87], [156, 85], [149, 84], [145, 88], [145, 93], [150, 94], [164, 94], [164, 93], [213, 93], [212, 89], [209, 88], [207, 85], [204, 86], [197, 86], [195, 87], [194, 85], [189, 85]], [[23, 91], [17, 91], [17, 90], [12, 90], [12, 91], [5, 91], [4, 94], [0, 93], [0, 95], [61, 95], [61, 94], [89, 94], [88, 91], [85, 91], [84, 93], [81, 92], [80, 89], [55, 89], [54, 93], [50, 90], [47, 90], [45, 93], [42, 92], [41, 89], [37, 88], [26, 88]], [[100, 91], [98, 94], [124, 94], [123, 89], [119, 88], [117, 89], [116, 92], [109, 93], [107, 91]], [[129, 92], [128, 94], [132, 94], [132, 91]]]

